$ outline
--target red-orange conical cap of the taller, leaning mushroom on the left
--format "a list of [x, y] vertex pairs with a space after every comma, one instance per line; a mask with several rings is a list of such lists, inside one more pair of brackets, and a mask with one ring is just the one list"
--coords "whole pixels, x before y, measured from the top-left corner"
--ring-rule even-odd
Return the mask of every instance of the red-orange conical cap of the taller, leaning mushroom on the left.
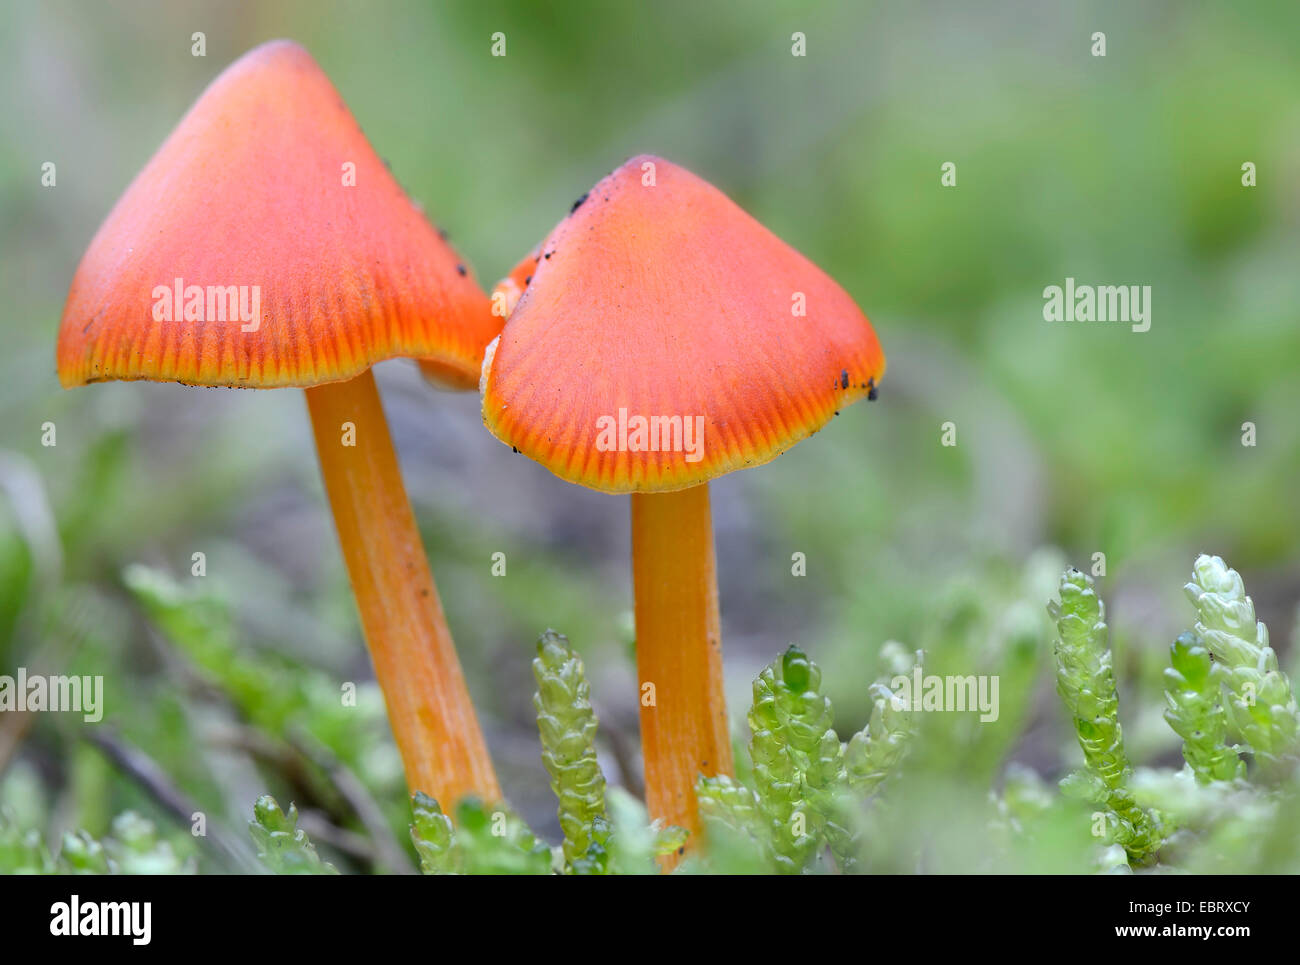
[[472, 388], [499, 329], [329, 78], [276, 40], [212, 82], [113, 207], [56, 356], [65, 386], [309, 386], [400, 355]]

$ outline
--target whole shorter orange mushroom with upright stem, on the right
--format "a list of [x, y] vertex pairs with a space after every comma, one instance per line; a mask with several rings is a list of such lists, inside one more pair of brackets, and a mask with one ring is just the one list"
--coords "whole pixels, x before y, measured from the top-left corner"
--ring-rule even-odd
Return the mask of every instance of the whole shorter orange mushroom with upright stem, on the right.
[[697, 775], [732, 773], [708, 480], [874, 398], [884, 355], [811, 261], [650, 156], [593, 187], [512, 289], [484, 421], [562, 479], [632, 493], [647, 804], [698, 831]]

